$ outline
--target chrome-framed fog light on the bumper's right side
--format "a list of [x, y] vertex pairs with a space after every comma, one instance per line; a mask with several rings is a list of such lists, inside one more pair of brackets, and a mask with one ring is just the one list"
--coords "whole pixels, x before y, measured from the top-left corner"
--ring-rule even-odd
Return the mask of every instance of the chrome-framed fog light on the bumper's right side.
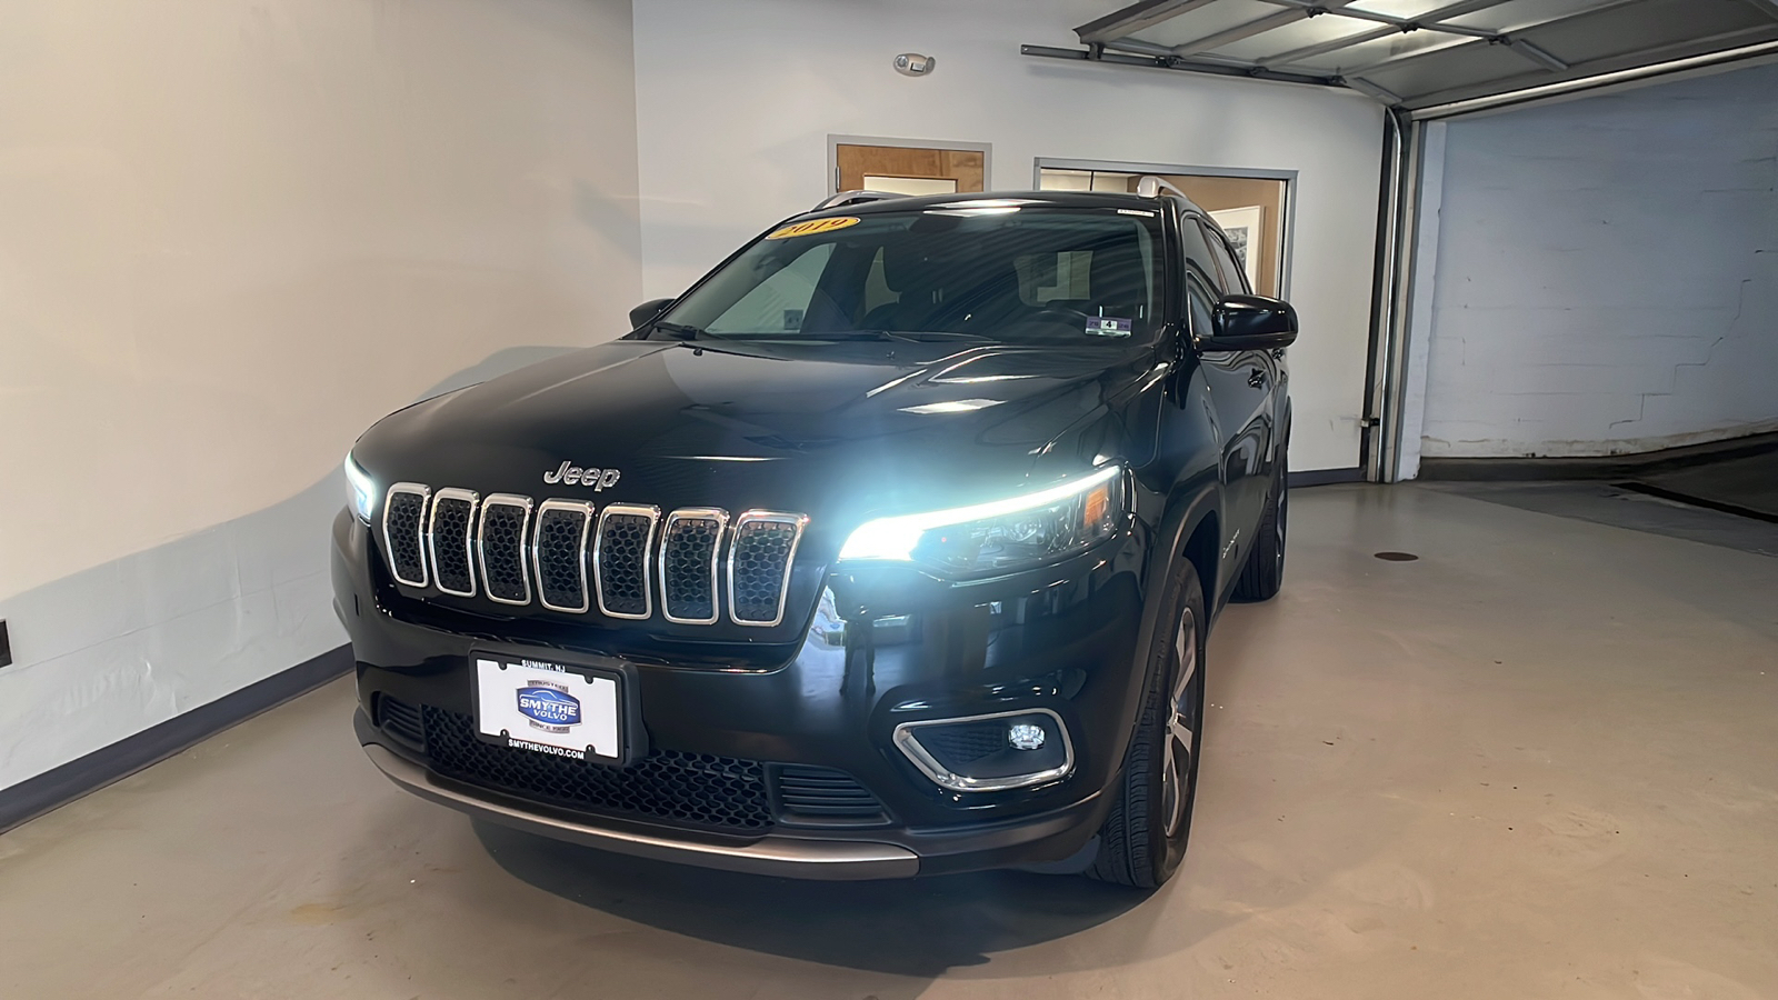
[[894, 744], [921, 774], [953, 792], [1026, 788], [1074, 770], [1069, 730], [1049, 708], [901, 722]]

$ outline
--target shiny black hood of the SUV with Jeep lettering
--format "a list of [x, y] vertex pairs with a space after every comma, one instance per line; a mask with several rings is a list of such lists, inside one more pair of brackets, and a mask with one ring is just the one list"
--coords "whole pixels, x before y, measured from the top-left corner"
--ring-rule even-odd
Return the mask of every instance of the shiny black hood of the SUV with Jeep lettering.
[[[1058, 440], [1104, 415], [1145, 359], [1109, 345], [621, 340], [411, 406], [354, 454], [384, 486], [855, 521], [1079, 473], [1095, 456], [1058, 454]], [[564, 463], [605, 475], [546, 482]]]

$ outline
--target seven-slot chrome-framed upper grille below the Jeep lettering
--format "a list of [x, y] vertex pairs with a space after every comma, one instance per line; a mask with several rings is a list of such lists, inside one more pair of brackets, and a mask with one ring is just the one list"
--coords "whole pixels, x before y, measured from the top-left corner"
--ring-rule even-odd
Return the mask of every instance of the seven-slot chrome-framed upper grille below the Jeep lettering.
[[805, 514], [542, 500], [471, 489], [389, 488], [389, 573], [407, 587], [562, 614], [674, 625], [784, 621]]

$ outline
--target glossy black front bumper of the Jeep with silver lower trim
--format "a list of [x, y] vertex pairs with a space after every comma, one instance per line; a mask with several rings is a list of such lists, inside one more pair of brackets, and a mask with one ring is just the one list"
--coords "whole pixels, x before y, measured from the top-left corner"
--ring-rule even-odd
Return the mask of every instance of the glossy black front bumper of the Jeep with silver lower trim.
[[[663, 817], [608, 815], [516, 794], [498, 783], [441, 772], [425, 746], [391, 738], [375, 717], [380, 698], [468, 715], [469, 649], [560, 644], [510, 632], [444, 630], [404, 614], [379, 587], [380, 560], [350, 514], [334, 530], [336, 603], [357, 658], [359, 742], [396, 785], [485, 819], [599, 847], [740, 872], [811, 879], [885, 879], [980, 868], [1085, 867], [1111, 806], [1140, 678], [1133, 676], [1141, 610], [1141, 544], [1125, 534], [1044, 578], [949, 585], [932, 593], [869, 593], [811, 609], [807, 635], [766, 669], [686, 669], [626, 660], [653, 751], [715, 754], [843, 770], [882, 804], [880, 822], [832, 824], [775, 813], [766, 829], [713, 831]], [[868, 605], [846, 619], [839, 609]], [[880, 623], [889, 621], [884, 628]], [[861, 637], [864, 641], [861, 641]], [[589, 630], [583, 648], [601, 655]], [[720, 658], [720, 648], [699, 651]], [[743, 655], [736, 655], [741, 660]], [[759, 664], [763, 651], [745, 651]], [[1074, 769], [1058, 781], [1006, 792], [949, 792], [893, 744], [894, 726], [1042, 708], [1074, 742]]]

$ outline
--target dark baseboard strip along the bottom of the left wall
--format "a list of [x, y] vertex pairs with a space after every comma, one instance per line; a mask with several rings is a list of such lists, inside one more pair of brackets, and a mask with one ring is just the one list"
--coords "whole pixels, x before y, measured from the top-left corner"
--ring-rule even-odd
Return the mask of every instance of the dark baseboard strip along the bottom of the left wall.
[[229, 726], [348, 673], [352, 673], [352, 648], [340, 646], [11, 788], [0, 788], [0, 833], [160, 763]]

